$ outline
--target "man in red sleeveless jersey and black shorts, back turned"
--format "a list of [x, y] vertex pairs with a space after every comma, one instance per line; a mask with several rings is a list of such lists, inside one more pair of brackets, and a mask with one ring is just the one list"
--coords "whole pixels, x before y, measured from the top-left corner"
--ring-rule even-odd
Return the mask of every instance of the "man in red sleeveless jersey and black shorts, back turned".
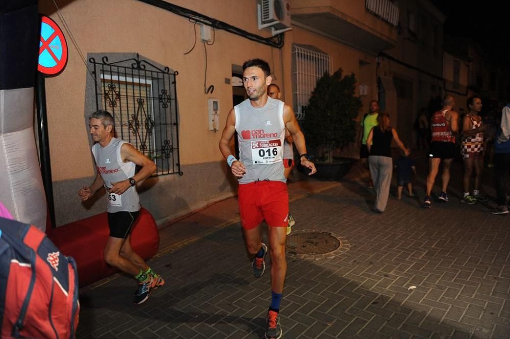
[[453, 111], [455, 98], [447, 95], [443, 100], [443, 108], [432, 115], [430, 130], [432, 142], [429, 151], [429, 172], [427, 176], [427, 192], [423, 206], [430, 208], [432, 198], [430, 193], [436, 181], [439, 164], [443, 162], [442, 191], [439, 199], [448, 202], [446, 190], [450, 181], [450, 166], [455, 156], [455, 134], [458, 132], [458, 113]]

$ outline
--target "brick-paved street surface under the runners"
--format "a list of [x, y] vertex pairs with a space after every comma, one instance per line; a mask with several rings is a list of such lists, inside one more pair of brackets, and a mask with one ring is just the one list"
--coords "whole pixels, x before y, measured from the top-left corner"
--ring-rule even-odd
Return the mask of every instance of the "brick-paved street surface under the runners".
[[[510, 218], [455, 197], [421, 208], [423, 176], [418, 198], [391, 195], [374, 214], [362, 175], [355, 166], [340, 183], [289, 185], [293, 231], [331, 232], [350, 248], [320, 260], [288, 255], [283, 338], [508, 339]], [[264, 337], [270, 271], [251, 275], [238, 219], [230, 198], [163, 229], [149, 265], [166, 284], [142, 305], [121, 274], [81, 289], [77, 337]]]

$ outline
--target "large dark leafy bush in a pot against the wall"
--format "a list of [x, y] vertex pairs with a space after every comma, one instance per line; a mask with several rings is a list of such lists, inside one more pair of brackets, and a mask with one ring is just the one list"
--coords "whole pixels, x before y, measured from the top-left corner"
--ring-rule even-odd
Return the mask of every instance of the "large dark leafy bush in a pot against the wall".
[[355, 85], [354, 74], [343, 76], [339, 68], [331, 75], [325, 73], [310, 97], [301, 126], [319, 178], [339, 180], [354, 163], [354, 159], [334, 157], [333, 152], [354, 142], [356, 136], [355, 118], [362, 102], [354, 95]]

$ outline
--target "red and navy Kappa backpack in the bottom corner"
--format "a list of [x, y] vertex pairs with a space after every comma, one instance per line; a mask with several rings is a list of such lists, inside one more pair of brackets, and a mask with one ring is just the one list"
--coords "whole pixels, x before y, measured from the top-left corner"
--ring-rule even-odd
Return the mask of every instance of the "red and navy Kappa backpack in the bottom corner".
[[34, 226], [0, 218], [0, 337], [73, 339], [78, 273]]

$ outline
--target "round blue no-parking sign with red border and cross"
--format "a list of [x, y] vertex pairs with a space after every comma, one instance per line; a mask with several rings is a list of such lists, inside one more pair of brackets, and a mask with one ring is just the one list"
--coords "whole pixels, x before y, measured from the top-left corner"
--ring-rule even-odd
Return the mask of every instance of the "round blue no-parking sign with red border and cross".
[[62, 72], [67, 64], [67, 42], [58, 24], [47, 16], [41, 16], [39, 61], [37, 70], [54, 76]]

